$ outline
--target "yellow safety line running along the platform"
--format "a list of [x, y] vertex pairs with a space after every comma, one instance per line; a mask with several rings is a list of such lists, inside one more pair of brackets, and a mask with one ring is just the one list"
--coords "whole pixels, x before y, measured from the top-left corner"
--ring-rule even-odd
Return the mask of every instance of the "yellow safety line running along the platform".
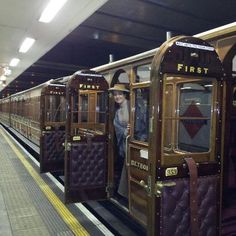
[[18, 158], [21, 160], [25, 168], [34, 178], [35, 182], [39, 185], [40, 189], [44, 192], [48, 200], [54, 206], [56, 211], [62, 217], [64, 222], [69, 226], [72, 232], [75, 235], [89, 235], [89, 233], [85, 230], [85, 228], [79, 223], [79, 221], [70, 213], [67, 207], [61, 202], [61, 200], [56, 196], [56, 194], [48, 187], [45, 181], [41, 178], [41, 176], [34, 170], [31, 164], [26, 160], [26, 158], [20, 153], [20, 151], [16, 148], [15, 144], [11, 142], [11, 140], [6, 136], [6, 134], [1, 130], [1, 134], [8, 142], [12, 150], [16, 153]]

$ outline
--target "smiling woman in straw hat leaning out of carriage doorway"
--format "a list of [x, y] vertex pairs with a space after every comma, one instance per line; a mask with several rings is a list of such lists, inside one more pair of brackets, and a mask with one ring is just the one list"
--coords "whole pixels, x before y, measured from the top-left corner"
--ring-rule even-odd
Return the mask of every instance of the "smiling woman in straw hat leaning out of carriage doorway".
[[127, 96], [129, 90], [124, 84], [115, 84], [114, 87], [110, 88], [114, 101], [117, 105], [115, 117], [113, 120], [115, 134], [117, 139], [117, 150], [118, 150], [118, 169], [121, 169], [120, 180], [117, 188], [117, 193], [122, 197], [128, 198], [128, 178], [127, 169], [125, 163], [125, 142], [129, 131], [129, 101]]

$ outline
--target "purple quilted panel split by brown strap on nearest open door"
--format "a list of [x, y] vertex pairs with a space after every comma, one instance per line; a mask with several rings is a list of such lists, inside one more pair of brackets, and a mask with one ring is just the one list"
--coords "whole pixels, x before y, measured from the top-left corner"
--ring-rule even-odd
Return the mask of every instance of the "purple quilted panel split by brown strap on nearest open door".
[[[173, 181], [176, 186], [162, 190], [161, 235], [190, 236], [189, 179]], [[199, 236], [217, 235], [218, 184], [219, 176], [198, 178]]]

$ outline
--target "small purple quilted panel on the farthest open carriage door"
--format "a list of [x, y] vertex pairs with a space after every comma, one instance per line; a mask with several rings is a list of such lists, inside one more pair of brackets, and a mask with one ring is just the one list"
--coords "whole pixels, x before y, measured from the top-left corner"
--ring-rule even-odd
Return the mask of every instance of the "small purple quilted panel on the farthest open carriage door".
[[44, 161], [60, 161], [64, 159], [65, 131], [56, 130], [46, 133], [43, 138]]

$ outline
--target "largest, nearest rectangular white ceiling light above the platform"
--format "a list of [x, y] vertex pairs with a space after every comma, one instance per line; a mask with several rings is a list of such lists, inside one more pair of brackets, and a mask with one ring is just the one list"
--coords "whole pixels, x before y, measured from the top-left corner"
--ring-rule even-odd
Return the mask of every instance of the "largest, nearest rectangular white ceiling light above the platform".
[[39, 18], [40, 22], [49, 23], [66, 3], [67, 0], [50, 0], [42, 15]]

